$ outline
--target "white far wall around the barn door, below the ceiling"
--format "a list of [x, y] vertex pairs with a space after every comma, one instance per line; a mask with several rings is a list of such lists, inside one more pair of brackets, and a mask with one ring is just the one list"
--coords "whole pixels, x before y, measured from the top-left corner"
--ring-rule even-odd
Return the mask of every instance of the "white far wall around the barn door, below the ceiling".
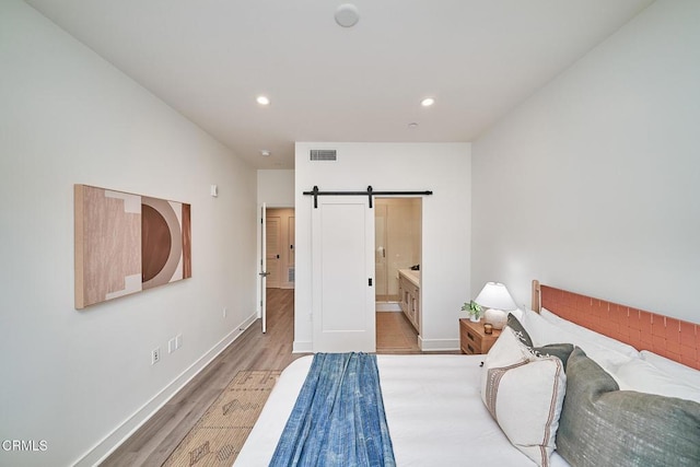
[[[337, 149], [337, 162], [311, 162], [310, 149]], [[313, 347], [311, 215], [314, 185], [327, 191], [433, 190], [423, 198], [423, 349], [457, 349], [459, 308], [469, 295], [470, 144], [296, 143], [294, 350]]]

